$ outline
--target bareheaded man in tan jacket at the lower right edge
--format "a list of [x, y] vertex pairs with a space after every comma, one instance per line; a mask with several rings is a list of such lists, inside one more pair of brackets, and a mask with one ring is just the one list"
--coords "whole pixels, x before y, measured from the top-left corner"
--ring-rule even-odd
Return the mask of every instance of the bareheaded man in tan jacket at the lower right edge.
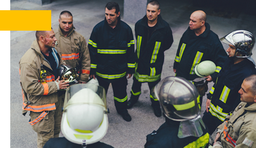
[[256, 75], [244, 79], [242, 101], [218, 128], [214, 148], [256, 147]]

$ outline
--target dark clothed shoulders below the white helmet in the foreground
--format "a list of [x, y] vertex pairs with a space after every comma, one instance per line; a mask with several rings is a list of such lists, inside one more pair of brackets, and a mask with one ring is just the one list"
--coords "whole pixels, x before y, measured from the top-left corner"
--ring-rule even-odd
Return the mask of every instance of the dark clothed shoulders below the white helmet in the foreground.
[[[81, 144], [72, 143], [65, 137], [51, 138], [49, 139], [43, 148], [82, 148]], [[111, 145], [103, 142], [96, 142], [93, 144], [87, 144], [87, 148], [114, 148]]]

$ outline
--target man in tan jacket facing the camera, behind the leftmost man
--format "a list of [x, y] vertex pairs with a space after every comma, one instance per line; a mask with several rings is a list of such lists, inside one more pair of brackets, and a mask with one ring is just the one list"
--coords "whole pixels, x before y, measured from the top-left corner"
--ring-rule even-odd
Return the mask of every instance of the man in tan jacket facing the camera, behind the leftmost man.
[[59, 27], [55, 30], [57, 42], [56, 50], [66, 64], [76, 68], [80, 76], [80, 83], [88, 81], [91, 60], [86, 39], [75, 31], [73, 16], [69, 11], [62, 11], [59, 15]]

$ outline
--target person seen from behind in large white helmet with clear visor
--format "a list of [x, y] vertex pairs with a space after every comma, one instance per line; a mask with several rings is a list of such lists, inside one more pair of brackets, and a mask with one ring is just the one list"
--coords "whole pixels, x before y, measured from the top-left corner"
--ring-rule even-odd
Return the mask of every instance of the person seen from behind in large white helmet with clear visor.
[[113, 147], [99, 142], [109, 126], [109, 110], [101, 86], [76, 84], [68, 87], [63, 107], [61, 132], [64, 137], [50, 139], [44, 148]]

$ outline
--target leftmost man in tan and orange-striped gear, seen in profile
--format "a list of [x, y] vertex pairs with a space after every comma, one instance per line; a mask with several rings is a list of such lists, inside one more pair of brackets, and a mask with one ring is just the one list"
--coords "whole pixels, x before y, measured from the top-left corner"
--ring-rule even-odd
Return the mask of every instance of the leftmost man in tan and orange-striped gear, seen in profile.
[[54, 48], [55, 34], [36, 31], [31, 48], [19, 61], [20, 84], [23, 92], [23, 115], [30, 111], [29, 124], [37, 132], [37, 147], [58, 137], [61, 121], [61, 97], [57, 91], [69, 84], [56, 79], [58, 65], [65, 64]]

